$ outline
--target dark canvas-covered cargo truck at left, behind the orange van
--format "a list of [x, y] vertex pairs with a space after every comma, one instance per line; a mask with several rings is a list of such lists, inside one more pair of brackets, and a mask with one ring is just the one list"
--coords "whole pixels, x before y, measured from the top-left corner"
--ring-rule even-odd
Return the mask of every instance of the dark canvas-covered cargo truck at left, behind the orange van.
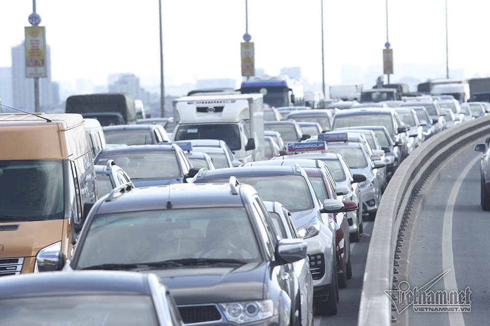
[[65, 111], [97, 119], [101, 126], [136, 124], [136, 108], [131, 94], [72, 95], [66, 99]]

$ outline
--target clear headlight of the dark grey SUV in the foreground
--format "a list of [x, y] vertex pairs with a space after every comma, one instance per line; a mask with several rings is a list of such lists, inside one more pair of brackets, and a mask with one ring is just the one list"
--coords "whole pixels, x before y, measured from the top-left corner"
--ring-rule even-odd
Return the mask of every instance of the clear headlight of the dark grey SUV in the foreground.
[[272, 300], [220, 304], [229, 322], [244, 324], [266, 319], [274, 314]]

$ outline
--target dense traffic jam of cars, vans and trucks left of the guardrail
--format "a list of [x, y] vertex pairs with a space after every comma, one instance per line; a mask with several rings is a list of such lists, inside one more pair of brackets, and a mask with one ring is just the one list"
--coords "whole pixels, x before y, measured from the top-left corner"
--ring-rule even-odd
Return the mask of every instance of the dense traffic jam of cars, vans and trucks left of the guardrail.
[[1, 325], [313, 326], [397, 167], [490, 112], [396, 85], [312, 102], [280, 77], [172, 107], [0, 114]]

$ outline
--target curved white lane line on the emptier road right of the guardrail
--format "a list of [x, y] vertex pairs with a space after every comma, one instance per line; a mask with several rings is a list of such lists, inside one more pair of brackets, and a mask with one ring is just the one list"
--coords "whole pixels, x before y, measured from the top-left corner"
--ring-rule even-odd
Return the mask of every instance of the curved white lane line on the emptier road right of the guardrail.
[[[475, 165], [478, 160], [481, 159], [481, 155], [478, 155], [472, 159], [461, 174], [456, 179], [453, 189], [447, 198], [446, 209], [444, 211], [444, 223], [442, 224], [442, 270], [451, 269], [451, 273], [444, 276], [444, 289], [446, 291], [452, 291], [458, 289], [458, 284], [456, 283], [456, 273], [454, 270], [454, 256], [453, 256], [453, 242], [452, 242], [452, 232], [453, 232], [453, 212], [454, 203], [456, 202], [456, 197], [461, 188], [461, 185], [469, 173], [469, 170]], [[449, 325], [451, 326], [464, 326], [465, 319], [463, 318], [463, 313], [461, 312], [448, 312]]]

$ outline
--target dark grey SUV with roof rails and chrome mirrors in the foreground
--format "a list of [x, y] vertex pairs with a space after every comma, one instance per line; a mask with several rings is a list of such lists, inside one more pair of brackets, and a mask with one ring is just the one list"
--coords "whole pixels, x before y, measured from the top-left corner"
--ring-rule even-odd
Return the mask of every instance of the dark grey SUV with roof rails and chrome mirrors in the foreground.
[[[43, 266], [61, 267], [53, 257]], [[276, 326], [300, 324], [291, 263], [306, 257], [306, 242], [278, 240], [257, 191], [232, 177], [115, 189], [92, 207], [70, 267], [154, 273], [184, 324]]]

